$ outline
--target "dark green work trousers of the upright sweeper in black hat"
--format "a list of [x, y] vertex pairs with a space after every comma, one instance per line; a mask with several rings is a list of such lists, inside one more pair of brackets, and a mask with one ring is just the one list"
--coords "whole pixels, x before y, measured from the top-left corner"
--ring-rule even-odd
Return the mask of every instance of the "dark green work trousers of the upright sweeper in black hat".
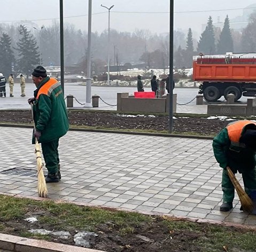
[[56, 172], [58, 172], [59, 164], [59, 138], [47, 143], [42, 143], [41, 146], [45, 167], [47, 168], [49, 174], [56, 174]]

